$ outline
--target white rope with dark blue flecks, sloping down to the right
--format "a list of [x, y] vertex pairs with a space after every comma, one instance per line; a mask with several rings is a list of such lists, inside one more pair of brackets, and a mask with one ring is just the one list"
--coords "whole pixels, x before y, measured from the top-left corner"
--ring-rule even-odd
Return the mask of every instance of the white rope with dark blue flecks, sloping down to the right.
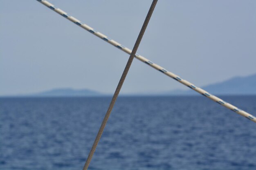
[[[81, 26], [83, 29], [89, 31], [90, 33], [96, 35], [97, 37], [105, 40], [106, 42], [108, 42], [110, 44], [112, 44], [113, 46], [117, 47], [118, 49], [128, 53], [129, 55], [131, 54], [132, 50], [128, 49], [127, 47], [125, 47], [123, 45], [121, 45], [119, 42], [116, 42], [115, 40], [112, 40], [108, 36], [106, 36], [106, 35], [98, 32], [98, 31], [96, 31], [92, 27], [82, 23], [80, 20], [78, 20], [78, 19], [68, 15], [66, 12], [62, 11], [61, 9], [59, 9], [57, 7], [54, 7], [54, 5], [49, 3], [48, 1], [46, 1], [46, 0], [37, 0], [37, 1], [41, 2], [46, 7], [49, 7], [53, 11], [57, 12], [58, 14], [62, 15], [65, 18], [67, 18], [71, 22], [74, 22], [75, 24]], [[219, 97], [216, 97], [215, 95], [212, 95], [212, 94], [208, 93], [207, 91], [203, 90], [202, 88], [199, 88], [199, 87], [195, 86], [194, 84], [186, 81], [185, 79], [182, 79], [178, 75], [175, 75], [174, 73], [172, 73], [170, 71], [167, 71], [162, 66], [159, 66], [159, 65], [151, 62], [150, 60], [146, 59], [145, 57], [142, 57], [141, 55], [136, 53], [135, 58], [137, 58], [141, 62], [144, 62], [144, 63], [148, 64], [149, 66], [157, 69], [158, 71], [161, 71], [165, 75], [168, 75], [169, 77], [177, 80], [177, 82], [180, 82], [180, 83], [184, 84], [185, 86], [188, 86], [189, 88], [191, 88], [194, 91], [204, 95], [205, 97], [208, 97], [209, 99], [213, 100], [214, 102], [217, 102], [218, 104], [220, 104], [220, 105], [222, 105], [222, 106], [224, 106], [224, 107], [226, 107], [226, 108], [228, 108], [228, 109], [238, 113], [239, 115], [242, 115], [242, 116], [246, 117], [247, 119], [250, 119], [250, 120], [256, 122], [256, 117], [254, 117], [253, 115], [245, 112], [244, 110], [241, 110], [241, 109], [237, 108], [236, 106], [234, 106], [232, 104], [229, 104], [229, 103], [225, 102], [224, 100], [220, 99]]]

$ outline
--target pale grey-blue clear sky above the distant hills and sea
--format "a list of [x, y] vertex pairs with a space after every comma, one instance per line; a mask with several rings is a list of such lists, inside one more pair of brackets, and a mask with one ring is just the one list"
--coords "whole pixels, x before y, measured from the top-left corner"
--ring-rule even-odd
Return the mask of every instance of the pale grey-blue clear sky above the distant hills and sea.
[[[49, 0], [132, 49], [151, 0]], [[255, 0], [159, 0], [138, 53], [197, 86], [256, 73]], [[129, 55], [36, 0], [0, 0], [0, 95], [114, 93]], [[121, 93], [186, 87], [135, 59]]]

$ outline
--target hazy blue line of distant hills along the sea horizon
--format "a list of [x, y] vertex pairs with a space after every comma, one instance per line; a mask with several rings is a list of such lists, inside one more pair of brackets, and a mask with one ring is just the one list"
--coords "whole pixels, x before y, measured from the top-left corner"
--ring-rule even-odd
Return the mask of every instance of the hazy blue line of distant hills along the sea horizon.
[[[213, 95], [256, 95], [256, 74], [246, 77], [233, 77], [224, 82], [202, 86], [204, 90]], [[137, 93], [137, 94], [121, 94], [122, 96], [177, 96], [177, 95], [198, 95], [195, 91], [188, 90], [172, 90], [162, 93]], [[112, 96], [112, 94], [101, 93], [90, 89], [73, 89], [73, 88], [56, 88], [49, 91], [34, 93], [29, 95], [16, 95], [21, 97], [96, 97], [96, 96]]]

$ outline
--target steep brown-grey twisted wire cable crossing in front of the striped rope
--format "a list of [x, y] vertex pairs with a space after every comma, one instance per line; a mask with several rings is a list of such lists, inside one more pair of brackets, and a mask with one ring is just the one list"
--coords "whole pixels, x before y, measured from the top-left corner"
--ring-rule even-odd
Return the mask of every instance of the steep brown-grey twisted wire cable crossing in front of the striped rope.
[[133, 60], [133, 58], [134, 58], [134, 56], [135, 56], [135, 54], [137, 52], [137, 49], [139, 47], [139, 44], [141, 42], [141, 39], [142, 39], [145, 31], [146, 31], [146, 28], [148, 26], [148, 22], [149, 22], [149, 20], [151, 18], [151, 15], [152, 15], [152, 13], [153, 13], [153, 11], [155, 9], [156, 4], [157, 4], [157, 0], [153, 0], [152, 4], [150, 6], [150, 9], [148, 11], [148, 14], [146, 16], [146, 19], [145, 19], [145, 21], [144, 21], [144, 23], [142, 25], [142, 28], [141, 28], [141, 30], [139, 32], [138, 38], [137, 38], [137, 40], [135, 42], [135, 45], [134, 45], [134, 47], [132, 49], [132, 52], [131, 52], [130, 57], [128, 59], [128, 62], [126, 64], [125, 68], [124, 68], [124, 72], [123, 72], [123, 74], [121, 76], [121, 79], [119, 80], [119, 83], [117, 85], [116, 91], [115, 91], [115, 93], [114, 93], [114, 95], [112, 97], [112, 100], [111, 100], [110, 105], [108, 107], [108, 111], [107, 111], [107, 113], [106, 113], [106, 115], [105, 115], [105, 117], [104, 117], [104, 119], [102, 121], [101, 127], [99, 128], [99, 132], [98, 132], [97, 137], [96, 137], [96, 139], [94, 141], [94, 144], [92, 145], [92, 149], [91, 149], [91, 151], [90, 151], [90, 153], [88, 155], [88, 158], [87, 158], [87, 160], [85, 162], [83, 170], [87, 170], [88, 169], [90, 161], [92, 160], [92, 156], [93, 156], [93, 154], [94, 154], [94, 152], [96, 150], [96, 147], [97, 147], [97, 145], [99, 143], [99, 140], [101, 138], [103, 130], [104, 130], [106, 124], [107, 124], [107, 121], [108, 121], [108, 118], [110, 116], [110, 113], [111, 113], [111, 111], [112, 111], [112, 109], [113, 109], [113, 107], [115, 105], [115, 102], [117, 100], [118, 94], [119, 94], [119, 92], [120, 92], [120, 90], [122, 88], [122, 85], [124, 84], [124, 79], [126, 78], [126, 75], [127, 75], [128, 71], [129, 71], [129, 68], [130, 68], [130, 66], [132, 64], [132, 60]]

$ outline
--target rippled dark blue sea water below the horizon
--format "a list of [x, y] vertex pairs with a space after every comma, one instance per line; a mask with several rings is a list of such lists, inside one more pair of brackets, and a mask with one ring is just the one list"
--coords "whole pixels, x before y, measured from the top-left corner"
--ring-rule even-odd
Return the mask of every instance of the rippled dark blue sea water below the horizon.
[[[0, 98], [0, 170], [81, 170], [110, 100]], [[256, 124], [203, 96], [119, 97], [89, 169], [256, 170]]]

